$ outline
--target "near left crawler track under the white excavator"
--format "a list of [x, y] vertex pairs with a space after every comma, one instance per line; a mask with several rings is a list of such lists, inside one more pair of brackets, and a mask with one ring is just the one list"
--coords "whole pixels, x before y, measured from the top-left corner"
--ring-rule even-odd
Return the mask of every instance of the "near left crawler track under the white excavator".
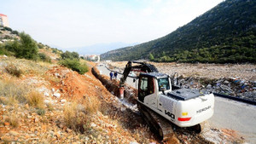
[[148, 107], [143, 106], [140, 102], [137, 102], [137, 107], [144, 120], [149, 125], [149, 128], [154, 130], [154, 133], [159, 136], [160, 140], [166, 141], [175, 135], [173, 133], [173, 125], [170, 124], [166, 118], [162, 118], [159, 114], [155, 113]]

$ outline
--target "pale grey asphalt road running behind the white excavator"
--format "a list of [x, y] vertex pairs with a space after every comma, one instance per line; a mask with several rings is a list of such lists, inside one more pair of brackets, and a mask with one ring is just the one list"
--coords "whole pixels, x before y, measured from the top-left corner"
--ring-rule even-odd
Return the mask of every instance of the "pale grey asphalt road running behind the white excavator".
[[[97, 68], [102, 74], [109, 76], [105, 66]], [[125, 83], [133, 88], [137, 85], [133, 83], [133, 78], [127, 78]], [[245, 137], [246, 142], [256, 143], [256, 106], [215, 96], [214, 114], [208, 122], [213, 128], [236, 130]]]

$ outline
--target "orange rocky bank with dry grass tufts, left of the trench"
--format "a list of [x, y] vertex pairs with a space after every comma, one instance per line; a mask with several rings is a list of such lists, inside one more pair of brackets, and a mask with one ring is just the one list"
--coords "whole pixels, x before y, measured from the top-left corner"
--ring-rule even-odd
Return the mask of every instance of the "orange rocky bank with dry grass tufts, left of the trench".
[[0, 143], [154, 141], [90, 72], [3, 56], [0, 65]]

